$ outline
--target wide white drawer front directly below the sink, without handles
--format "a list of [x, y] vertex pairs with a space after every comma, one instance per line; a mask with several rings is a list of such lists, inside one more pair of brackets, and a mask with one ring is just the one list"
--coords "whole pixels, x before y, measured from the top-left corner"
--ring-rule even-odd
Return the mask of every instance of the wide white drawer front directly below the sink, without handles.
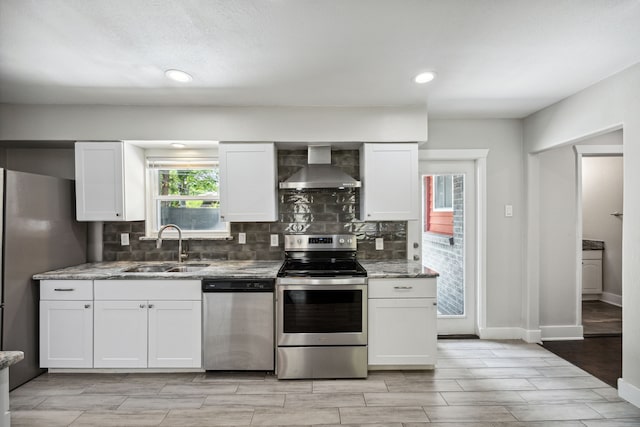
[[96, 280], [97, 300], [202, 300], [200, 280]]

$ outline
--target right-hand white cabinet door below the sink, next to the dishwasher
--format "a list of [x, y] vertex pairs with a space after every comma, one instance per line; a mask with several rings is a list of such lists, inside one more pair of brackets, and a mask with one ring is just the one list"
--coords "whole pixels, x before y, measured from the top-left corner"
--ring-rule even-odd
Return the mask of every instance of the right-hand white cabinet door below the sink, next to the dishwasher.
[[149, 302], [149, 367], [199, 368], [200, 301]]

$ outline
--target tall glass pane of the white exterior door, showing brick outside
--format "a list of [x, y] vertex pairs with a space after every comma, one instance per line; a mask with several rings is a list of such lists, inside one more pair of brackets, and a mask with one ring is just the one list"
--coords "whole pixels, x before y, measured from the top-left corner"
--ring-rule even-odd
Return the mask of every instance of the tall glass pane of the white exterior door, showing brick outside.
[[[449, 183], [445, 177], [449, 178]], [[421, 180], [425, 206], [422, 263], [440, 274], [437, 281], [440, 316], [465, 315], [464, 178], [464, 175], [432, 175]], [[432, 186], [429, 185], [431, 181], [434, 183]], [[448, 216], [442, 212], [433, 214], [436, 208], [430, 207], [429, 200], [433, 200], [434, 205], [437, 200], [437, 195], [430, 193], [440, 191], [444, 200], [442, 204], [450, 203], [453, 210]], [[451, 194], [449, 199], [445, 194]]]

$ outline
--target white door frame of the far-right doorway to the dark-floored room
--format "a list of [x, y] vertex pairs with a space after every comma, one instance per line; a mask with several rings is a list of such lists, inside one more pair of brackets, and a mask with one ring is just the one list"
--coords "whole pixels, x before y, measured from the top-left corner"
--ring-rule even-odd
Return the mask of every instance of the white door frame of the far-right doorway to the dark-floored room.
[[[622, 145], [574, 145], [576, 152], [576, 322], [582, 325], [582, 158], [622, 156]], [[584, 334], [584, 332], [583, 332]]]

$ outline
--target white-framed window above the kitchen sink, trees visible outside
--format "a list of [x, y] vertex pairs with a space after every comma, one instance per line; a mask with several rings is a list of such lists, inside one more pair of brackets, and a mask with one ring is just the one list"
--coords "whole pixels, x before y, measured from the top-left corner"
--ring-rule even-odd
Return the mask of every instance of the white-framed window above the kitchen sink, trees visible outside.
[[217, 159], [148, 157], [147, 170], [147, 237], [156, 237], [166, 224], [179, 226], [183, 237], [229, 236], [229, 223], [220, 221]]

